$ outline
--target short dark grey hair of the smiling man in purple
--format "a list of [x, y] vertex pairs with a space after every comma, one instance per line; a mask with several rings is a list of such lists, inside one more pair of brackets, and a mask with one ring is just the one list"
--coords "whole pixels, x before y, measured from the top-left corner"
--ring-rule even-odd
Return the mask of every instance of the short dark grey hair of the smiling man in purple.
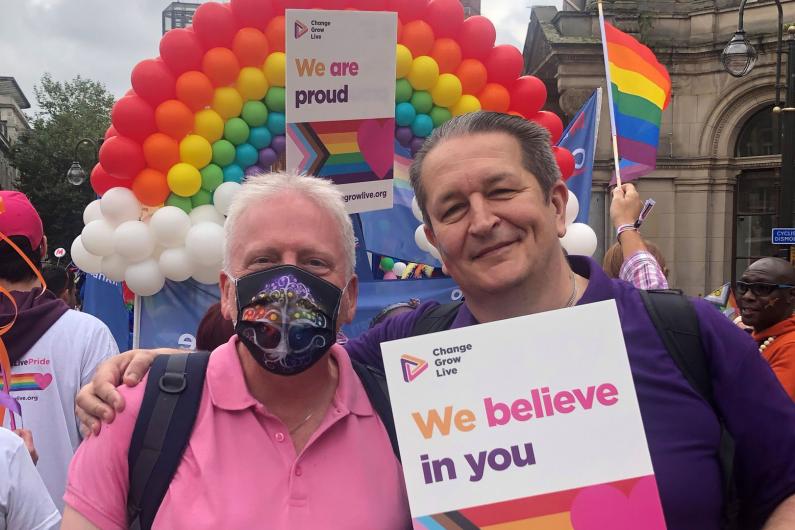
[[522, 165], [535, 175], [541, 186], [541, 191], [544, 193], [544, 198], [549, 200], [552, 186], [560, 179], [560, 169], [558, 169], [555, 155], [552, 153], [549, 131], [537, 123], [511, 114], [485, 111], [462, 114], [435, 129], [417, 152], [411, 164], [409, 172], [411, 187], [414, 188], [417, 204], [426, 225], [431, 226], [426, 204], [425, 184], [427, 184], [428, 178], [433, 178], [433, 175], [426, 176], [426, 182], [423, 184], [422, 164], [425, 157], [437, 145], [449, 138], [493, 132], [505, 133], [519, 142], [519, 147], [522, 150]]

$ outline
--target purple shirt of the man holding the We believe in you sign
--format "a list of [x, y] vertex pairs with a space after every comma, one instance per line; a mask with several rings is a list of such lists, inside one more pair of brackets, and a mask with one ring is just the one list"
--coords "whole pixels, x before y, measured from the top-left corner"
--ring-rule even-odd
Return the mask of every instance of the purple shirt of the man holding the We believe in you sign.
[[[589, 279], [578, 305], [615, 299], [638, 394], [643, 425], [668, 528], [720, 528], [721, 492], [715, 413], [690, 386], [656, 333], [637, 290], [609, 279], [588, 258], [569, 258]], [[383, 366], [380, 343], [412, 335], [417, 318], [436, 302], [397, 315], [352, 339], [351, 357]], [[795, 494], [795, 404], [747, 333], [710, 304], [694, 299], [713, 392], [736, 443], [735, 477], [751, 528]], [[477, 324], [462, 305], [452, 328]], [[506, 374], [510, 370], [506, 370]]]

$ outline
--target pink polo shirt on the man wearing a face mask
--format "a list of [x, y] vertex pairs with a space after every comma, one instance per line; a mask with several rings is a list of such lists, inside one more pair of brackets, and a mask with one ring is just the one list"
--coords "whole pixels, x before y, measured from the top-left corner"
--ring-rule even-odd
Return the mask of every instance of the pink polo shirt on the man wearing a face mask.
[[[210, 357], [199, 414], [153, 528], [410, 528], [400, 465], [341, 346], [339, 385], [296, 455], [285, 425], [249, 394], [237, 337]], [[127, 528], [127, 451], [145, 384], [120, 387], [124, 412], [82, 443], [64, 500], [96, 526]]]

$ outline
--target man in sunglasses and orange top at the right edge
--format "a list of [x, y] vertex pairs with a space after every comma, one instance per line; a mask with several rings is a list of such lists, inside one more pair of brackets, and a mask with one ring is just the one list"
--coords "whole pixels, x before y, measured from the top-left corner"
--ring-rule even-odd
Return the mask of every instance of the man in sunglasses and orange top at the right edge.
[[795, 400], [795, 268], [781, 258], [762, 258], [745, 269], [734, 292], [759, 353]]

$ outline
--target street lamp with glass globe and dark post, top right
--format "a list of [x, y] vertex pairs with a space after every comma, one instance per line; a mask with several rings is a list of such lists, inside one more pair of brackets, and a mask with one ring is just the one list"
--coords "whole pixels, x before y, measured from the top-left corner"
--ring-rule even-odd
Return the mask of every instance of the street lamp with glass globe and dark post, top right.
[[[745, 38], [743, 12], [747, 0], [740, 2], [737, 31], [724, 48], [721, 62], [734, 77], [748, 75], [756, 63], [756, 50]], [[781, 101], [781, 52], [784, 45], [784, 13], [781, 2], [778, 8], [778, 39], [776, 41], [776, 101], [773, 113], [780, 117], [776, 138], [781, 146], [781, 195], [779, 197], [779, 226], [790, 228], [792, 224], [793, 195], [795, 195], [795, 26], [787, 29], [787, 92], [786, 101]]]

